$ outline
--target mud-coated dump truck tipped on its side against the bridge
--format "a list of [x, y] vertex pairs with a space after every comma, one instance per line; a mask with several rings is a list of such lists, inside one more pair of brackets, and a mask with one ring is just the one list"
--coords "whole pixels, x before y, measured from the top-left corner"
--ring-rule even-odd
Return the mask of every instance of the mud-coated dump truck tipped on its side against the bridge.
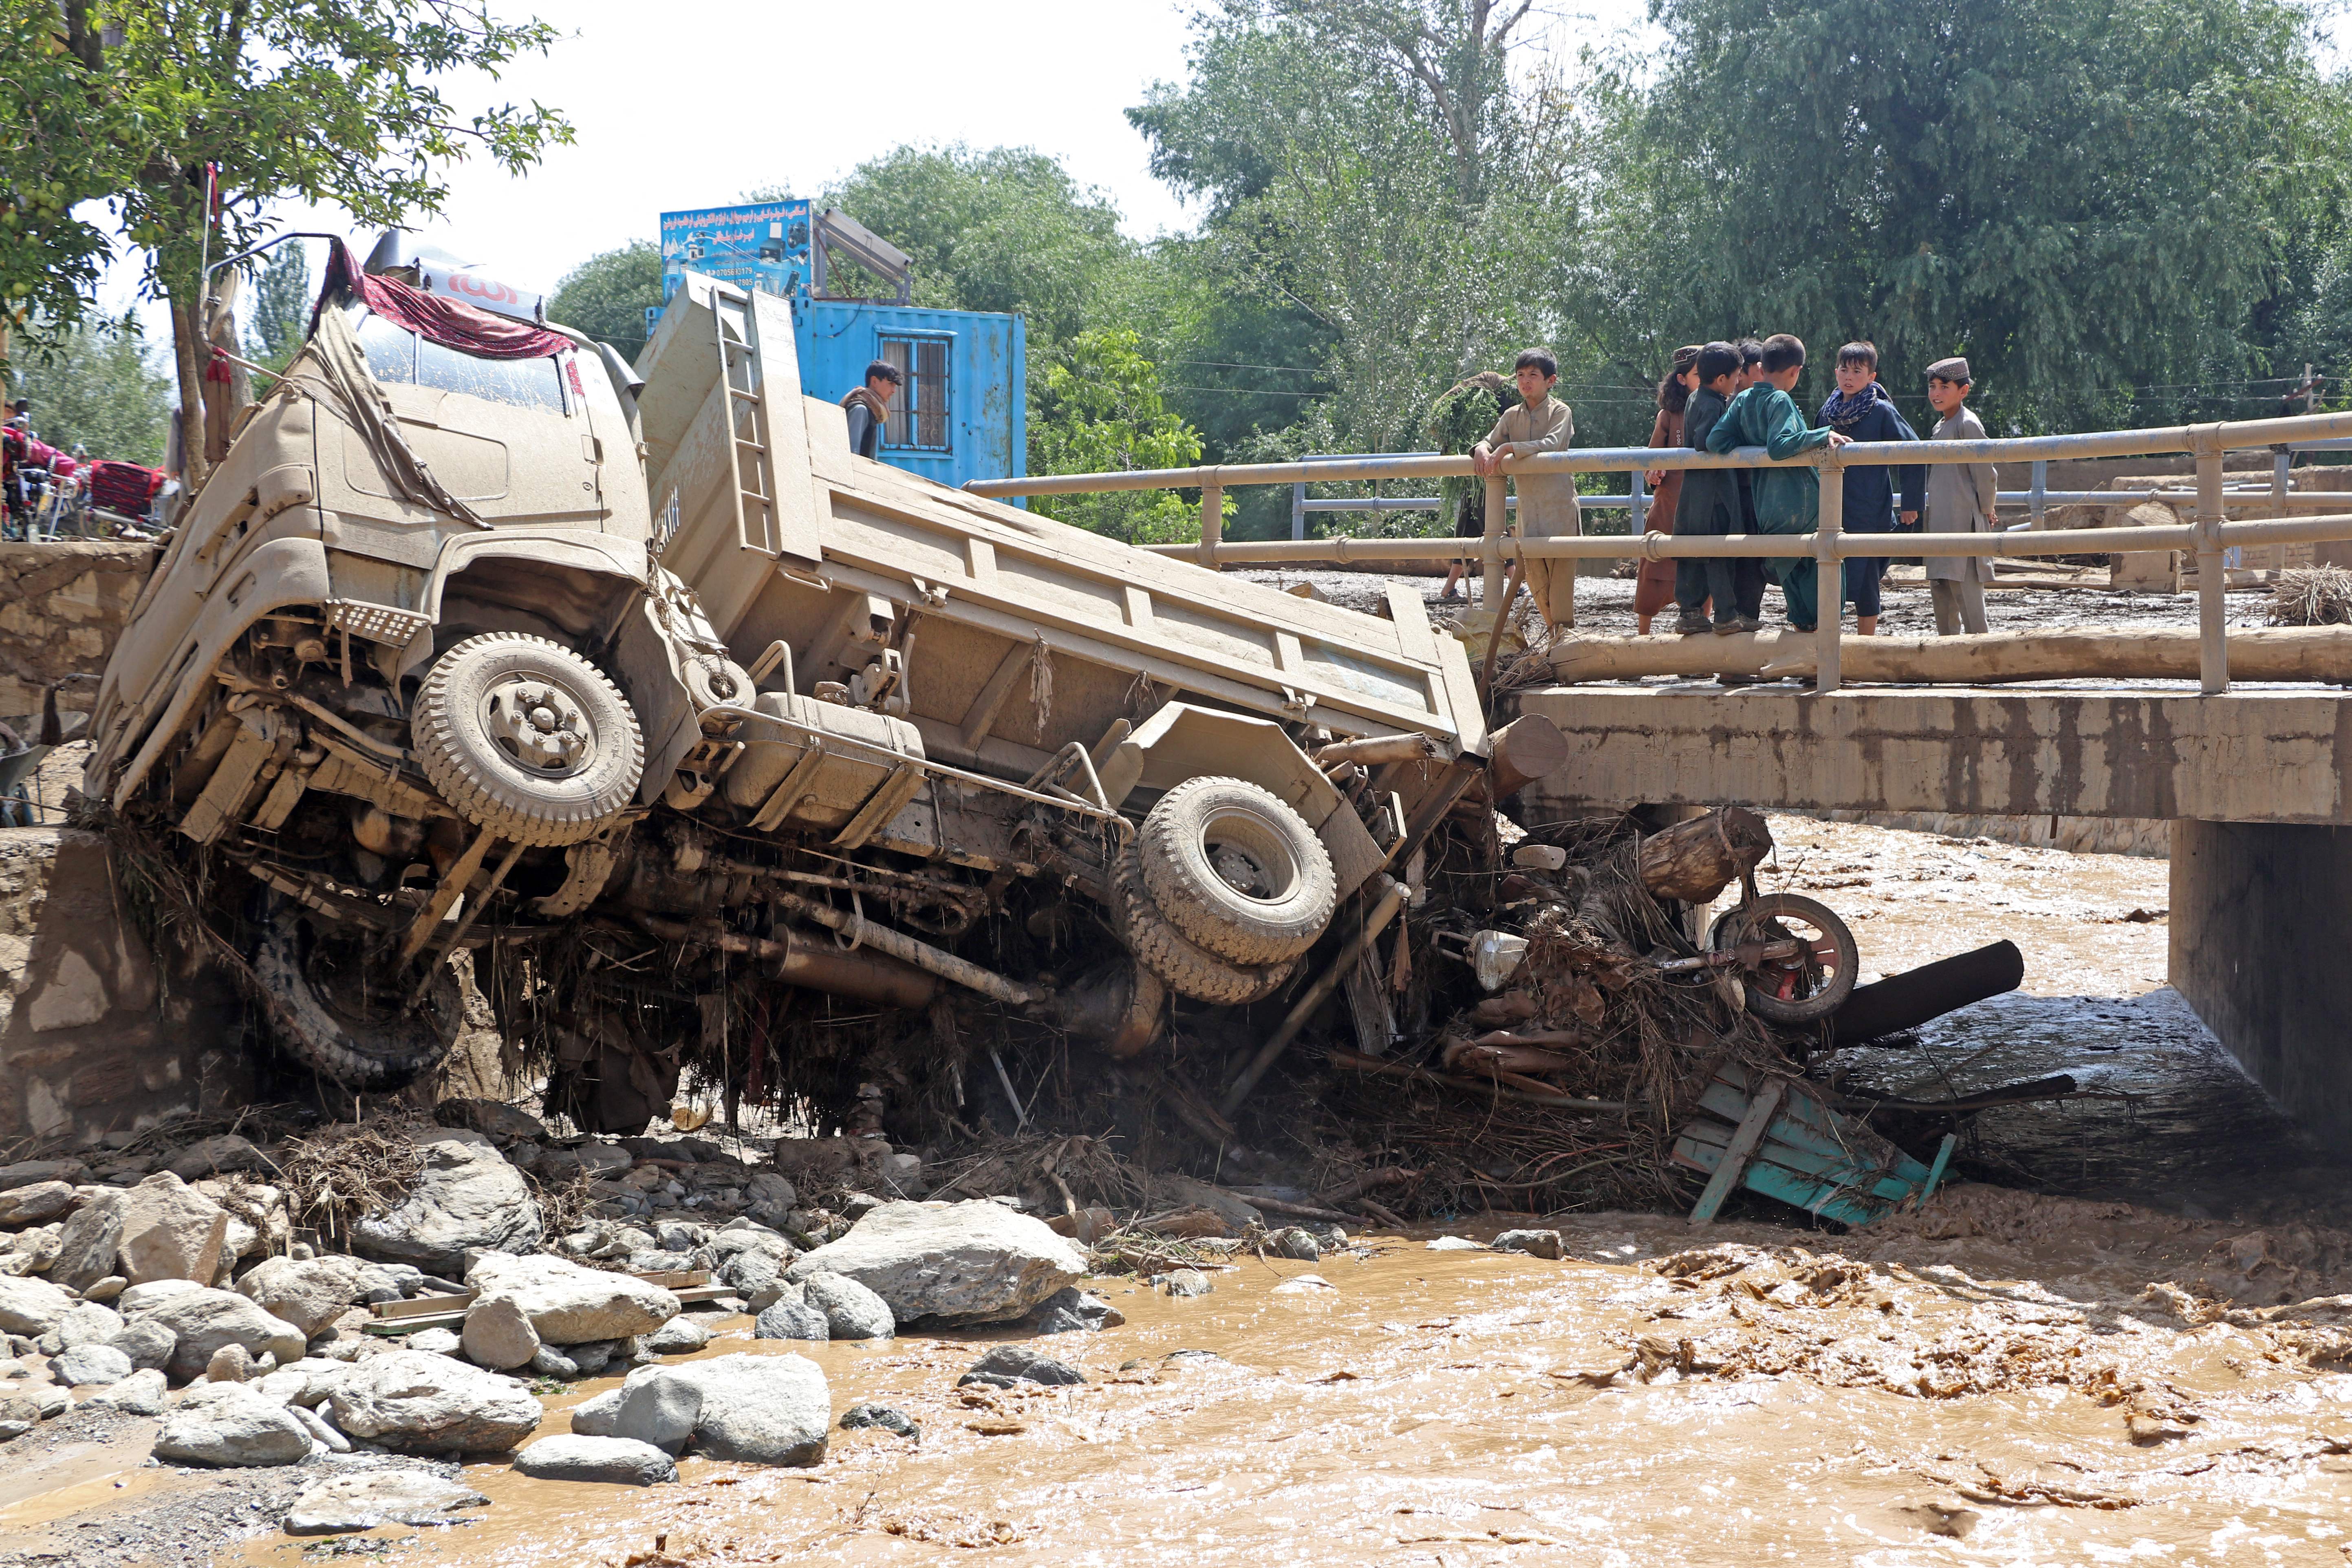
[[781, 299], [694, 275], [630, 367], [383, 256], [339, 247], [183, 508], [87, 773], [346, 1091], [437, 1065], [461, 954], [595, 1131], [687, 1060], [769, 1091], [811, 1006], [1134, 1056], [1524, 783], [1418, 595], [1352, 614], [851, 456]]

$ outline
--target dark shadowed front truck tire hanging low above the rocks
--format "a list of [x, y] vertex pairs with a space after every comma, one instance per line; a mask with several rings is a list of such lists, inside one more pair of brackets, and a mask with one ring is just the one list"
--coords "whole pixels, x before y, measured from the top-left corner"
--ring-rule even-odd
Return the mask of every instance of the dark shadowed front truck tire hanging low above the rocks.
[[374, 957], [362, 940], [280, 907], [254, 947], [266, 1030], [285, 1056], [343, 1088], [400, 1088], [440, 1067], [466, 1006], [456, 971], [437, 964], [412, 1009], [416, 966]]

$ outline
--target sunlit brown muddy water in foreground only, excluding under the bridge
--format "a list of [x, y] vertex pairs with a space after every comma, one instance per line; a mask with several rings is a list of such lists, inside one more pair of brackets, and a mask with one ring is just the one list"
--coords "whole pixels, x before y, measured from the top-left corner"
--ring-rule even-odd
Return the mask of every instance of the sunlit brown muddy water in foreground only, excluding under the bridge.
[[[943, 1547], [1047, 1563], [2343, 1561], [2352, 1378], [2277, 1352], [2270, 1328], [2136, 1305], [2150, 1269], [2171, 1269], [2145, 1227], [2049, 1218], [2072, 1218], [2077, 1248], [2056, 1286], [2020, 1284], [2034, 1260], [1997, 1237], [1884, 1239], [1882, 1258], [1839, 1265], [1755, 1227], [1710, 1234], [1736, 1241], [1675, 1279], [1656, 1260], [1686, 1227], [1623, 1215], [1571, 1232], [1566, 1262], [1388, 1239], [1362, 1260], [1247, 1262], [1200, 1300], [1108, 1281], [1122, 1328], [1044, 1342], [1087, 1368], [1084, 1389], [967, 1396], [953, 1385], [971, 1340], [804, 1347], [835, 1410], [894, 1403], [922, 1441], [837, 1432], [816, 1469], [689, 1460], [680, 1486], [647, 1490], [470, 1467], [494, 1500], [480, 1523], [376, 1535], [407, 1540], [388, 1561], [501, 1568]], [[2140, 1251], [2110, 1251], [2119, 1237]], [[233, 1561], [294, 1563], [301, 1542]]]

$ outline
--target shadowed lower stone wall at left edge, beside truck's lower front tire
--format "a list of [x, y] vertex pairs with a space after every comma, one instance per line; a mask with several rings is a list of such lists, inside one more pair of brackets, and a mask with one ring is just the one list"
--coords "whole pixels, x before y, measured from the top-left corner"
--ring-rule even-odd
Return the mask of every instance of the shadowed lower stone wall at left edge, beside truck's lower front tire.
[[103, 837], [0, 830], [0, 1140], [87, 1143], [245, 1105], [240, 1032], [214, 969], [155, 961]]

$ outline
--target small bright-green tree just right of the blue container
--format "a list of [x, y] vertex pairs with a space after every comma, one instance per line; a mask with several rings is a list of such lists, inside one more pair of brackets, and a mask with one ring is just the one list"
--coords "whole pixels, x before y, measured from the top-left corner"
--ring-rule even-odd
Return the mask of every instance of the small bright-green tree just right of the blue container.
[[[1138, 334], [1080, 331], [1044, 364], [1028, 461], [1030, 473], [1188, 468], [1200, 463], [1200, 430], [1169, 414]], [[1200, 508], [1171, 491], [1037, 496], [1030, 510], [1131, 545], [1200, 538]]]

